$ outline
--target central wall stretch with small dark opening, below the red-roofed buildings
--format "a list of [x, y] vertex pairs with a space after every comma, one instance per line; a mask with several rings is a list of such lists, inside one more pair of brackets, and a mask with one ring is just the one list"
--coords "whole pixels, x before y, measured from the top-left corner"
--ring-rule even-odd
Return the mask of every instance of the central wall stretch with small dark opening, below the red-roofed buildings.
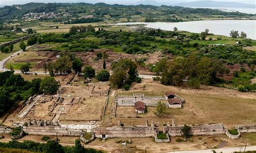
[[144, 127], [97, 127], [95, 137], [114, 138], [114, 137], [154, 137], [156, 130], [149, 126]]

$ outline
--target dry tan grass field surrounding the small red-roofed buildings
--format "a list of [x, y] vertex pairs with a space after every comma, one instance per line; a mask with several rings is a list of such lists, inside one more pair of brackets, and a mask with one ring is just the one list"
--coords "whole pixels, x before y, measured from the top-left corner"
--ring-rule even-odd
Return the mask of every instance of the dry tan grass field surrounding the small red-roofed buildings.
[[[147, 85], [143, 90], [143, 85]], [[227, 127], [237, 124], [253, 124], [256, 122], [255, 95], [253, 93], [239, 93], [231, 89], [210, 87], [206, 90], [192, 90], [173, 86], [164, 86], [150, 80], [143, 80], [130, 91], [118, 91], [118, 95], [132, 95], [144, 93], [148, 96], [164, 96], [166, 91], [174, 91], [185, 99], [183, 108], [167, 109], [163, 117], [158, 118], [153, 112], [155, 107], [148, 107], [148, 113], [140, 115], [138, 119], [122, 119], [127, 124], [143, 124], [145, 120], [155, 120], [166, 123], [174, 119], [178, 124], [224, 123]], [[236, 94], [235, 96], [233, 94]], [[245, 120], [246, 119], [246, 120]], [[113, 119], [119, 120], [119, 119]]]

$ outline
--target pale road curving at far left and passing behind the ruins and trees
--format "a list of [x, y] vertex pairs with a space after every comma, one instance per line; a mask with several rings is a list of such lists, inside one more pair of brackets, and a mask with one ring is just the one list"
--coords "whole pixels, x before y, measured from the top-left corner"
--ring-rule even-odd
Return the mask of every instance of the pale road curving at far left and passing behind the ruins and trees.
[[[32, 47], [32, 46], [26, 47], [26, 49], [28, 49], [28, 48], [30, 48], [30, 47]], [[0, 61], [0, 70], [3, 71], [3, 72], [5, 72], [5, 71], [10, 71], [10, 69], [4, 68], [5, 62], [8, 61], [9, 59], [11, 59], [12, 57], [16, 56], [18, 53], [21, 53], [21, 52], [22, 52], [22, 50], [17, 51], [17, 52], [15, 52], [14, 54], [10, 55], [9, 57], [7, 57], [7, 58], [1, 60], [1, 61]], [[14, 73], [15, 73], [15, 74], [22, 74], [22, 72], [19, 71], [19, 70], [15, 70]], [[42, 72], [42, 71], [30, 71], [30, 72], [26, 72], [26, 74], [35, 74], [35, 73], [41, 74], [41, 75], [42, 75], [42, 74], [45, 74], [45, 73]], [[46, 73], [46, 74], [49, 74], [49, 73]], [[65, 75], [65, 74], [63, 74], [63, 75]], [[143, 74], [139, 74], [139, 77], [140, 77], [140, 78], [144, 78], [144, 79], [152, 79], [152, 78], [157, 77], [157, 76], [156, 76], [156, 75], [143, 75]]]

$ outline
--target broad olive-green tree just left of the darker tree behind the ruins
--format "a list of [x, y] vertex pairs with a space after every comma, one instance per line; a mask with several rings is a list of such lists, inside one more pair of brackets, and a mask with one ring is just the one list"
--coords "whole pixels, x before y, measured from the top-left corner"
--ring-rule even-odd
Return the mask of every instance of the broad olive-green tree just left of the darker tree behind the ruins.
[[72, 62], [68, 55], [64, 57], [60, 57], [54, 63], [54, 69], [56, 72], [59, 72], [60, 75], [62, 75], [62, 73], [65, 73], [65, 72], [71, 73], [71, 67], [72, 67]]

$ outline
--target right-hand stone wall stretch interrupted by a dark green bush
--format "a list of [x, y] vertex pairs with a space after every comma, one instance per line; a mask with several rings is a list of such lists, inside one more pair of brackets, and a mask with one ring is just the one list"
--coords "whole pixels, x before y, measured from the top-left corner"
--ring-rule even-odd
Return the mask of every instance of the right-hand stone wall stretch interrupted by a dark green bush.
[[[224, 134], [223, 124], [201, 124], [201, 125], [187, 125], [191, 127], [192, 135], [220, 135]], [[170, 136], [181, 136], [181, 128], [183, 126], [169, 126], [166, 131]]]

